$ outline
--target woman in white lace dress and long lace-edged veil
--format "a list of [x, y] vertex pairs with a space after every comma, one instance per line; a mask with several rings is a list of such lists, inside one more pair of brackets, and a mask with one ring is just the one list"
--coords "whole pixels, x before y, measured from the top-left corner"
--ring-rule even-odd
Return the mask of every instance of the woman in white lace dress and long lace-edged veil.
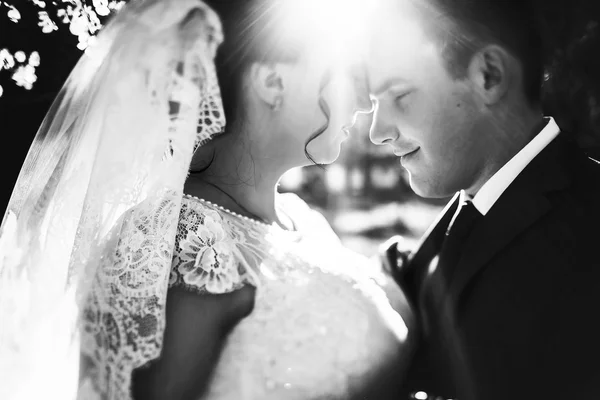
[[82, 57], [2, 225], [0, 312], [43, 290], [0, 350], [27, 365], [24, 326], [53, 346], [35, 355], [47, 370], [11, 371], [14, 398], [27, 379], [80, 399], [396, 398], [404, 296], [277, 193], [287, 170], [335, 161], [371, 108], [351, 32], [309, 3], [133, 1]]

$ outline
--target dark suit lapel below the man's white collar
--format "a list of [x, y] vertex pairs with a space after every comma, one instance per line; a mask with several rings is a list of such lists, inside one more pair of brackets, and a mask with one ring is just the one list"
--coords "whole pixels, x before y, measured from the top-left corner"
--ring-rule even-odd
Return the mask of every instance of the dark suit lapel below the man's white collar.
[[570, 184], [570, 144], [563, 136], [560, 134], [523, 170], [475, 226], [449, 282], [449, 304], [457, 306], [462, 291], [474, 276], [552, 209], [547, 193]]

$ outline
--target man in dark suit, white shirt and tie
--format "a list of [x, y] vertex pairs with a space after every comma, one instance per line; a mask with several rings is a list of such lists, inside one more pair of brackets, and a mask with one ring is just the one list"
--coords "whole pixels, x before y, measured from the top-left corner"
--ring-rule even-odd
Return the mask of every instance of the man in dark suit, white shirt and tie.
[[542, 114], [532, 9], [384, 7], [371, 140], [417, 194], [456, 193], [415, 252], [388, 250], [421, 328], [403, 398], [600, 399], [600, 165]]

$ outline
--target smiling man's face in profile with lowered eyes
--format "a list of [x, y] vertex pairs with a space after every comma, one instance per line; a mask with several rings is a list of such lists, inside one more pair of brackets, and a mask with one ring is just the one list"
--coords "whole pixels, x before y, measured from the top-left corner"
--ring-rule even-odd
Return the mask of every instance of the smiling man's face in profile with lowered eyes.
[[447, 197], [469, 189], [484, 161], [480, 108], [469, 80], [450, 76], [422, 27], [400, 15], [377, 24], [368, 79], [377, 103], [371, 140], [392, 147], [413, 190]]

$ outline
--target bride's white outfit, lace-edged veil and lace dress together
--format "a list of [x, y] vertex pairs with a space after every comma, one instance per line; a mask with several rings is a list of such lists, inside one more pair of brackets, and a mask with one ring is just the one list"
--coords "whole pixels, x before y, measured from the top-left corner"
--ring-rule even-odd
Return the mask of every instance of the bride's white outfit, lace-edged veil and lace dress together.
[[221, 41], [200, 0], [132, 1], [72, 71], [0, 226], [0, 398], [130, 399], [174, 285], [257, 288], [205, 399], [349, 399], [401, 381], [404, 299], [320, 214], [280, 196], [291, 232], [183, 196], [194, 150], [224, 127]]

